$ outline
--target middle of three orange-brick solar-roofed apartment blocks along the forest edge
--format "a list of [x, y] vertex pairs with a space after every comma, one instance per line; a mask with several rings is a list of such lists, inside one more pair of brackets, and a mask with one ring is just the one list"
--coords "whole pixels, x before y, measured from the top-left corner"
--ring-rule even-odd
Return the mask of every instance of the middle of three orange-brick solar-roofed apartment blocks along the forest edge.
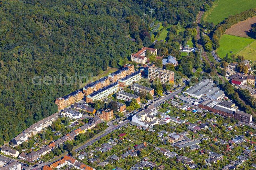
[[83, 94], [84, 95], [89, 95], [93, 93], [94, 91], [97, 91], [103, 87], [106, 87], [109, 85], [109, 78], [108, 76], [102, 77], [99, 80], [96, 80], [90, 84], [87, 84], [86, 86], [83, 87]]

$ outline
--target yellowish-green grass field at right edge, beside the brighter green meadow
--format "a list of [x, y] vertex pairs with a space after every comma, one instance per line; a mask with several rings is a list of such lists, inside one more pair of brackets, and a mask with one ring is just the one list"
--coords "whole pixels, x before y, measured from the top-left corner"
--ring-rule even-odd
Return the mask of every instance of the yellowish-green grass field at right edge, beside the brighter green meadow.
[[253, 41], [250, 45], [247, 45], [243, 50], [239, 51], [237, 55], [243, 55], [244, 59], [256, 61], [256, 41]]

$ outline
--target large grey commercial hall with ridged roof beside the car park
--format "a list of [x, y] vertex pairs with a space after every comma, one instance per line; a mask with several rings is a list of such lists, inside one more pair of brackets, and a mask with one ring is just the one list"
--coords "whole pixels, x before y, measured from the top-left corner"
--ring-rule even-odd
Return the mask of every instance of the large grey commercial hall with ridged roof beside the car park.
[[209, 99], [219, 100], [225, 96], [225, 93], [216, 87], [216, 84], [210, 80], [203, 80], [187, 89], [183, 94], [188, 94], [194, 98], [205, 96]]

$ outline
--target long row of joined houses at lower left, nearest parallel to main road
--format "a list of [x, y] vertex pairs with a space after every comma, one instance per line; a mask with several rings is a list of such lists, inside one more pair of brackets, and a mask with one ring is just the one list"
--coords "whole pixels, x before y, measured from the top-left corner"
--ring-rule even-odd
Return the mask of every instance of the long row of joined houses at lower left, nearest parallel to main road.
[[101, 119], [98, 116], [95, 116], [91, 118], [88, 123], [82, 125], [80, 128], [75, 129], [67, 135], [62, 136], [58, 140], [51, 142], [49, 145], [38, 151], [32, 151], [30, 153], [22, 152], [21, 154], [19, 154], [19, 159], [26, 160], [29, 163], [35, 162], [36, 160], [40, 159], [40, 157], [46, 155], [47, 153], [50, 153], [55, 147], [58, 147], [65, 141], [74, 139], [74, 137], [77, 136], [79, 133], [85, 133], [88, 129], [94, 128], [99, 123], [101, 123]]

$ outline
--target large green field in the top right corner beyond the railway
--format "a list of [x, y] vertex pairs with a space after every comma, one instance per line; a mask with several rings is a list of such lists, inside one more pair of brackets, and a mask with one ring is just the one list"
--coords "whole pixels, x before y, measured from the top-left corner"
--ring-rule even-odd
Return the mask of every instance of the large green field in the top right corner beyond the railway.
[[255, 0], [215, 0], [211, 9], [204, 13], [203, 19], [217, 25], [230, 15], [236, 15], [255, 7]]

